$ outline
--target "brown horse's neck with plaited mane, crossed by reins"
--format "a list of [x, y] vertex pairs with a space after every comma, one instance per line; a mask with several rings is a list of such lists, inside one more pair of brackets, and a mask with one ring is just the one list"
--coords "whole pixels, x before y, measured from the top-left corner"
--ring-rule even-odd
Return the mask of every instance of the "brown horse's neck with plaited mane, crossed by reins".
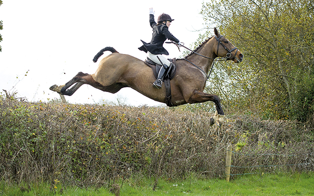
[[[195, 52], [203, 55], [200, 56], [196, 53], [193, 53], [192, 55], [188, 56], [186, 59], [195, 63], [199, 68], [201, 68], [205, 73], [209, 72], [209, 69], [211, 67], [211, 64], [213, 62], [213, 59], [216, 57], [212, 44], [209, 41], [207, 41], [206, 43], [204, 43], [199, 49], [197, 49]], [[209, 58], [206, 58], [206, 57]]]

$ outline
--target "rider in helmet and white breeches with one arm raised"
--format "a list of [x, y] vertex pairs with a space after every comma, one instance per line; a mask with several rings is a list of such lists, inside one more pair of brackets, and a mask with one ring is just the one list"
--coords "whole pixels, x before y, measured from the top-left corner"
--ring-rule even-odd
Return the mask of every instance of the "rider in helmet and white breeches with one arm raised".
[[151, 27], [153, 28], [153, 36], [150, 43], [145, 43], [142, 41], [143, 46], [141, 46], [140, 50], [145, 51], [147, 53], [147, 57], [154, 61], [157, 64], [161, 63], [161, 69], [158, 73], [157, 80], [153, 83], [154, 87], [157, 89], [161, 88], [162, 80], [165, 74], [167, 73], [171, 62], [162, 54], [169, 55], [168, 51], [163, 48], [163, 43], [166, 41], [166, 39], [172, 40], [175, 43], [181, 45], [181, 42], [173, 36], [168, 28], [170, 26], [170, 23], [174, 21], [174, 19], [171, 19], [171, 17], [168, 14], [162, 13], [158, 16], [157, 23], [155, 22], [155, 11], [153, 8], [149, 9], [149, 22], [151, 24]]

